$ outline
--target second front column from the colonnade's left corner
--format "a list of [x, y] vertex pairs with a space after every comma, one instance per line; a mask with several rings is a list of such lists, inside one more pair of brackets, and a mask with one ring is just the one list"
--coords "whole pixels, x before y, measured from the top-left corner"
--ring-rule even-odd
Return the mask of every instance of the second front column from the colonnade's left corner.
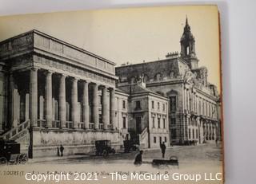
[[46, 72], [46, 127], [52, 127], [52, 75], [53, 72], [47, 71]]

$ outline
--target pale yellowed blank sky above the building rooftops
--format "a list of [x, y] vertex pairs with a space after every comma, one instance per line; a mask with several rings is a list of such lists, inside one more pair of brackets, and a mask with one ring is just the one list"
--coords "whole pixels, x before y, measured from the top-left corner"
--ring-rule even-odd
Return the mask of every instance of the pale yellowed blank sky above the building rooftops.
[[0, 40], [30, 29], [96, 53], [117, 65], [163, 59], [180, 52], [186, 15], [195, 37], [199, 66], [219, 88], [218, 9], [216, 6], [166, 6], [26, 14], [0, 18]]

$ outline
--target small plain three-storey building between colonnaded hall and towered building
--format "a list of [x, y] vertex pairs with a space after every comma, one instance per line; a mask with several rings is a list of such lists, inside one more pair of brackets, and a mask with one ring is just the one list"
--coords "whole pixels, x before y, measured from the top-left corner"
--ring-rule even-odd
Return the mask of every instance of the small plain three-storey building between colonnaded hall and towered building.
[[130, 139], [140, 148], [170, 145], [168, 99], [146, 88], [140, 80], [135, 84], [118, 84], [118, 89], [129, 94]]

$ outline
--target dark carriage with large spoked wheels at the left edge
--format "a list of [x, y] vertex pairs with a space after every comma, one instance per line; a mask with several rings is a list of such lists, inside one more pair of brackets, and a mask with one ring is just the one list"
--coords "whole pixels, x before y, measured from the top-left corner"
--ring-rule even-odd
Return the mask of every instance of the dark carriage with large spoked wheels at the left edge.
[[26, 163], [28, 156], [21, 154], [20, 144], [12, 140], [0, 140], [0, 165]]

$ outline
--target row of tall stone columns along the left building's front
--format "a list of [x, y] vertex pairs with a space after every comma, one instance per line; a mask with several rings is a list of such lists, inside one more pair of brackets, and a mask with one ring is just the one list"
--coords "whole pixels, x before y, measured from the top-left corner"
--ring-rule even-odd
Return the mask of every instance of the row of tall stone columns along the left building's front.
[[[66, 75], [60, 74], [58, 88], [58, 118], [59, 127], [66, 127]], [[53, 127], [53, 89], [52, 89], [53, 72], [46, 71], [45, 102], [46, 102], [46, 127]], [[78, 80], [82, 82], [82, 122], [78, 115]], [[92, 100], [92, 121], [90, 122], [90, 103], [89, 103], [89, 82], [78, 78], [71, 78], [71, 119], [74, 128], [83, 123], [86, 129], [99, 129], [99, 100], [98, 88], [102, 90], [102, 124], [103, 129], [116, 129], [115, 118], [115, 96], [114, 88], [110, 88], [110, 98], [107, 96], [107, 87], [95, 83], [90, 83], [93, 89]], [[38, 127], [38, 69], [30, 69], [30, 123], [32, 127]], [[94, 123], [90, 127], [90, 123]]]

